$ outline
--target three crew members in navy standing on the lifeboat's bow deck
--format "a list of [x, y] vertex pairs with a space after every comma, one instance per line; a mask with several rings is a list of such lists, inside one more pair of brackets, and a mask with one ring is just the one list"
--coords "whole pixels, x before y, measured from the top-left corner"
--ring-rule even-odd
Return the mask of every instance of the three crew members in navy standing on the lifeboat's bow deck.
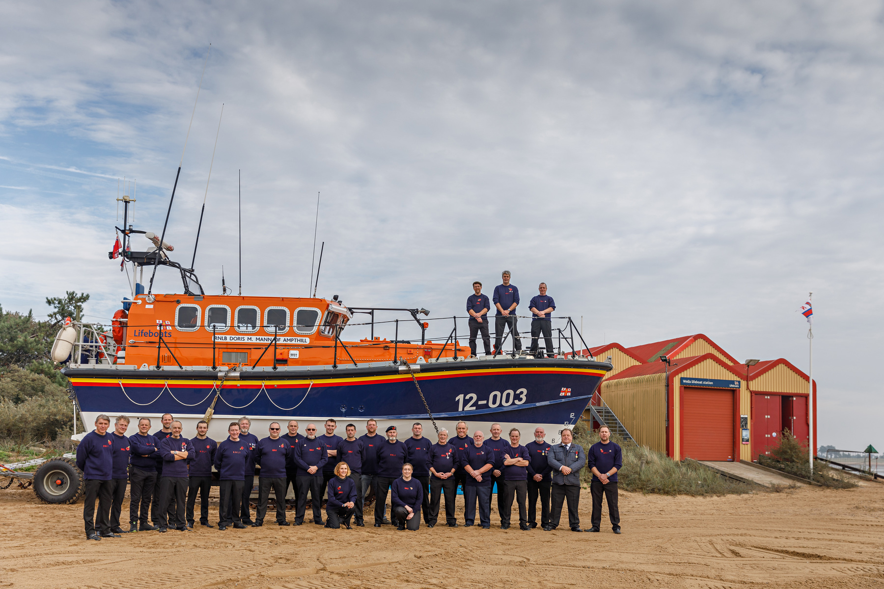
[[[492, 355], [491, 336], [488, 332], [488, 316], [494, 313], [494, 354], [499, 354], [503, 344], [504, 331], [513, 337], [515, 351], [522, 350], [522, 338], [519, 336], [519, 318], [515, 309], [519, 306], [519, 289], [511, 284], [509, 270], [504, 270], [500, 276], [501, 284], [494, 287], [494, 295], [489, 300], [488, 295], [482, 293], [482, 283], [476, 280], [473, 283], [473, 294], [467, 297], [467, 313], [469, 313], [469, 352], [476, 356], [476, 336], [481, 334], [482, 343], [486, 356]], [[546, 283], [540, 283], [537, 287], [537, 296], [531, 298], [528, 308], [531, 312], [531, 347], [530, 352], [536, 358], [543, 358], [544, 351], [537, 349], [540, 336], [546, 344], [546, 355], [550, 358], [555, 356], [552, 349], [552, 312], [555, 311], [555, 301], [546, 294]]]

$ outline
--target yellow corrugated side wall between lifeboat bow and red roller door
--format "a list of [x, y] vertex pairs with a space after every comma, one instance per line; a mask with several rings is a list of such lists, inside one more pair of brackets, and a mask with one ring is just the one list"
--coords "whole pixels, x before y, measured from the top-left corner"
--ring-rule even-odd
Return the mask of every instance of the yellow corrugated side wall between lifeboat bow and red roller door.
[[666, 451], [664, 374], [602, 381], [601, 396], [637, 443]]

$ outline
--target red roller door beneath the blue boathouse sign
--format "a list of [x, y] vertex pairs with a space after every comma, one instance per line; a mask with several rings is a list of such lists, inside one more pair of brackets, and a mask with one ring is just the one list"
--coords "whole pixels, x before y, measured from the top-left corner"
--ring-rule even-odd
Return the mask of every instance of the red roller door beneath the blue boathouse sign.
[[682, 459], [734, 459], [734, 391], [682, 387]]

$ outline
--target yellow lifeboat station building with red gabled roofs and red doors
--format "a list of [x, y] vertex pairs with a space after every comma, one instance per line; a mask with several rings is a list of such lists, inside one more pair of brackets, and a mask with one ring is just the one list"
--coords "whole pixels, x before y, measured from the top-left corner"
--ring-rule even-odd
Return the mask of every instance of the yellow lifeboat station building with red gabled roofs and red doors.
[[[590, 351], [613, 365], [592, 404], [616, 416], [636, 443], [669, 457], [757, 461], [784, 429], [806, 445], [813, 427], [817, 439], [807, 374], [786, 359], [750, 366], [703, 334]], [[813, 396], [816, 407], [816, 382]], [[598, 427], [589, 408], [583, 419]]]

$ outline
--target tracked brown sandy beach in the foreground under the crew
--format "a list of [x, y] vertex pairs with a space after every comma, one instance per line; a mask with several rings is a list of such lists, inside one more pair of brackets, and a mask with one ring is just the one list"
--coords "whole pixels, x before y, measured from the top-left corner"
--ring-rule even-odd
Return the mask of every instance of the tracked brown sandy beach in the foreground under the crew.
[[[584, 527], [590, 510], [583, 491]], [[14, 488], [0, 491], [0, 517], [0, 586], [22, 588], [884, 586], [884, 485], [875, 483], [710, 498], [621, 493], [619, 536], [604, 519], [601, 533], [503, 531], [492, 513], [491, 530], [196, 525], [96, 542], [85, 539], [81, 502], [46, 505]]]

